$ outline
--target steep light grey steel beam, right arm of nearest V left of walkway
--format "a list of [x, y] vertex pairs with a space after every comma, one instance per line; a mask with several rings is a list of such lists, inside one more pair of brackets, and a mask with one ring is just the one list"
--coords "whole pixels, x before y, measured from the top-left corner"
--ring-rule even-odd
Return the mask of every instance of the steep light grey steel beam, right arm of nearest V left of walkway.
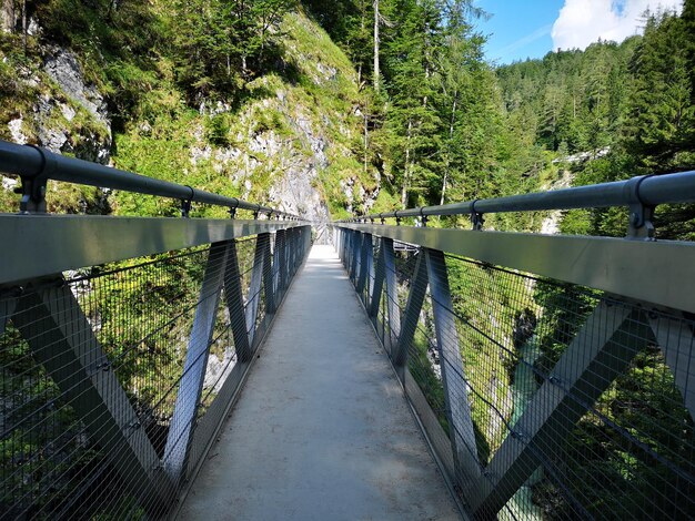
[[164, 448], [164, 468], [173, 482], [182, 478], [193, 440], [198, 406], [203, 390], [210, 343], [220, 306], [220, 293], [224, 280], [231, 242], [210, 246], [208, 263], [200, 289], [193, 328], [185, 351], [183, 376], [179, 384], [177, 402]]

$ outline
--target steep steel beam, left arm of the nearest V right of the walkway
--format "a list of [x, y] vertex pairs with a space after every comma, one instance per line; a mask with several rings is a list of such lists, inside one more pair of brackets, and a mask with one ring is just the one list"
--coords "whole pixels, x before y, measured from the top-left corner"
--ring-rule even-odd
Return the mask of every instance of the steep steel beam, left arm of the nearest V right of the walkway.
[[[422, 255], [422, 254], [421, 254]], [[469, 490], [480, 479], [481, 466], [477, 459], [475, 429], [466, 389], [466, 376], [459, 348], [459, 331], [453, 314], [453, 303], [449, 287], [449, 275], [444, 254], [437, 249], [424, 248], [427, 260], [427, 278], [432, 297], [432, 314], [436, 348], [442, 369], [444, 405], [450, 439], [454, 453], [456, 476], [462, 490]], [[457, 385], [456, 385], [457, 384]]]

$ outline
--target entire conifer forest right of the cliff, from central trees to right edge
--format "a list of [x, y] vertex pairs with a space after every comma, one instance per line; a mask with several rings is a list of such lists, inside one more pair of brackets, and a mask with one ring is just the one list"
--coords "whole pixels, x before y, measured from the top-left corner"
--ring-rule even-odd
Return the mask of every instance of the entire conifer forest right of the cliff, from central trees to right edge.
[[[401, 206], [547, 190], [557, 168], [580, 185], [695, 167], [693, 1], [645, 12], [644, 35], [621, 44], [501, 67], [469, 1], [306, 3], [357, 69], [365, 164]], [[620, 213], [572, 212], [562, 231], [620, 236]], [[693, 217], [662, 212], [662, 236], [692, 239]]]

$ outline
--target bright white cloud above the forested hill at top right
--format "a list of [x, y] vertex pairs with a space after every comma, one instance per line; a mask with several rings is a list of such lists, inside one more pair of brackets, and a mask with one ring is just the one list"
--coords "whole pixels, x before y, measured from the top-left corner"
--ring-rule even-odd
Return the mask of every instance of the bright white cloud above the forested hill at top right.
[[553, 25], [553, 49], [586, 49], [602, 40], [622, 42], [641, 30], [649, 9], [677, 10], [683, 0], [565, 0]]

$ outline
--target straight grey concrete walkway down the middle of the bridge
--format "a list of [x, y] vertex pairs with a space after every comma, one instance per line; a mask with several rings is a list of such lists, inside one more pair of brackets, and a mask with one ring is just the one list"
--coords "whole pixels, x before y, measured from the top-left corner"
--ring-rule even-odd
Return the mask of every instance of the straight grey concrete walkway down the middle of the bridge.
[[331, 246], [294, 280], [179, 519], [459, 519]]

